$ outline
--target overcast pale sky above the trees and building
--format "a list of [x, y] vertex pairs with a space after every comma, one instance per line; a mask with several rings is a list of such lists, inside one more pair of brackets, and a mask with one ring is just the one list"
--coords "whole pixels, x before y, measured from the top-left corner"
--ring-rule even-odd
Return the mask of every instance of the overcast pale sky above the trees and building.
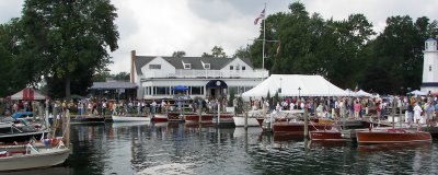
[[[118, 50], [111, 54], [112, 73], [129, 72], [130, 50], [140, 56], [170, 56], [184, 50], [199, 57], [222, 46], [231, 56], [249, 39], [258, 36], [254, 19], [266, 13], [287, 12], [292, 0], [112, 0], [117, 8], [120, 33]], [[388, 16], [427, 16], [438, 20], [438, 0], [301, 0], [310, 13], [324, 19], [347, 19], [362, 13], [376, 32], [385, 26]], [[0, 23], [21, 15], [22, 0], [0, 0]]]

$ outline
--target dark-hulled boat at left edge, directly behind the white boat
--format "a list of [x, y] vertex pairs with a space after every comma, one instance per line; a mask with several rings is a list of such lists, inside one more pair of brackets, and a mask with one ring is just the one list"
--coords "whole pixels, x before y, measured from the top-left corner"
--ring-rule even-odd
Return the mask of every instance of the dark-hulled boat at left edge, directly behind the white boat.
[[47, 133], [47, 130], [39, 130], [32, 126], [15, 127], [12, 124], [0, 122], [0, 142], [2, 143], [24, 142], [32, 138], [39, 140]]

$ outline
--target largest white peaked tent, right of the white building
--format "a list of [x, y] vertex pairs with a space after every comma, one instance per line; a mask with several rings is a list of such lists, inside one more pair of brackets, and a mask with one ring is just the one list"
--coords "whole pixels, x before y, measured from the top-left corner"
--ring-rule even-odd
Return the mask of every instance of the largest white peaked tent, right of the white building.
[[257, 86], [242, 94], [243, 97], [272, 96], [281, 89], [280, 96], [347, 96], [344, 90], [321, 75], [272, 74]]

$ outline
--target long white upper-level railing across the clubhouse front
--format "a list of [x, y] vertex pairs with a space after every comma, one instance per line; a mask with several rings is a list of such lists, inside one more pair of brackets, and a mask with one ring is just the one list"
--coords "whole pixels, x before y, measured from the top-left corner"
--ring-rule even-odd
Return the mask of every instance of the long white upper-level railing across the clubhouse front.
[[176, 69], [174, 73], [163, 71], [148, 71], [145, 72], [143, 79], [151, 78], [267, 78], [269, 72], [267, 70], [256, 69], [253, 71], [222, 71], [222, 70], [185, 70]]

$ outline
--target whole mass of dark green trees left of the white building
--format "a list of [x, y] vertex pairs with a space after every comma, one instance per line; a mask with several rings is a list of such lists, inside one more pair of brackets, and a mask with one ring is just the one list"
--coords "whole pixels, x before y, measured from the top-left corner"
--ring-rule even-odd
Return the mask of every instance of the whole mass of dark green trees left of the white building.
[[118, 48], [116, 18], [108, 0], [26, 0], [0, 24], [0, 96], [42, 85], [55, 98], [85, 95]]

